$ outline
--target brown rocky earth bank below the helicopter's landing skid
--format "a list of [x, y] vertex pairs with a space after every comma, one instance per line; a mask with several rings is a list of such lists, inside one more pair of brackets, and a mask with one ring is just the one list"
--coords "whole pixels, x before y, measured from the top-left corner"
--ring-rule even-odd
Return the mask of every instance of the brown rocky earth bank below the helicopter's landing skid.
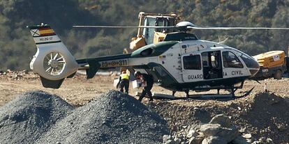
[[[182, 102], [197, 103], [193, 100]], [[274, 93], [258, 93], [242, 99], [228, 100], [228, 102], [200, 101], [198, 106], [184, 106], [184, 104], [162, 101], [148, 106], [168, 120], [172, 135], [184, 131], [191, 125], [207, 123], [215, 115], [224, 114], [228, 115], [242, 134], [251, 134], [252, 142], [267, 138], [272, 139], [274, 143], [289, 141], [288, 99]]]

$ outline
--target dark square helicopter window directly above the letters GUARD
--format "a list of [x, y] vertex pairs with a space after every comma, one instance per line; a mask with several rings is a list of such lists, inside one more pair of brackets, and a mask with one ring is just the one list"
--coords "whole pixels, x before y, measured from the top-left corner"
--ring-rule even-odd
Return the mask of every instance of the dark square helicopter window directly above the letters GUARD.
[[201, 70], [202, 69], [200, 55], [184, 56], [183, 63], [184, 63], [185, 70]]

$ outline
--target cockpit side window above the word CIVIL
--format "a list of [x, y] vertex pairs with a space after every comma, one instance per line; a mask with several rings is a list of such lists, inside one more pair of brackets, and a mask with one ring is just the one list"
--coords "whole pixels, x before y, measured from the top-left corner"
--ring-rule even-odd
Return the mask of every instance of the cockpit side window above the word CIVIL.
[[243, 68], [239, 58], [230, 51], [223, 51], [223, 65], [224, 67]]

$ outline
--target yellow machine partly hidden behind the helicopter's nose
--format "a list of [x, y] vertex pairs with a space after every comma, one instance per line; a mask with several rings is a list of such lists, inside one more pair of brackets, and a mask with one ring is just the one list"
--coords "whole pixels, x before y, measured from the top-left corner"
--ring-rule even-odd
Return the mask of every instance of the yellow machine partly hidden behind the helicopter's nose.
[[[284, 51], [268, 51], [262, 54], [253, 56], [260, 65], [260, 70], [253, 79], [267, 79], [274, 77], [274, 79], [282, 79], [283, 73], [287, 70]], [[288, 63], [289, 64], [289, 63]]]

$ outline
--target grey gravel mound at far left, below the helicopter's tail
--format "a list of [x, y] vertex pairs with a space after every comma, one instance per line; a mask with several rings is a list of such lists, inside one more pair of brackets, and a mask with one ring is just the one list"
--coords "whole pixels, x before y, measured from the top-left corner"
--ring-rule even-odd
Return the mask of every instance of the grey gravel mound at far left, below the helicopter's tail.
[[55, 95], [34, 91], [0, 107], [1, 143], [31, 143], [66, 116], [73, 106]]

